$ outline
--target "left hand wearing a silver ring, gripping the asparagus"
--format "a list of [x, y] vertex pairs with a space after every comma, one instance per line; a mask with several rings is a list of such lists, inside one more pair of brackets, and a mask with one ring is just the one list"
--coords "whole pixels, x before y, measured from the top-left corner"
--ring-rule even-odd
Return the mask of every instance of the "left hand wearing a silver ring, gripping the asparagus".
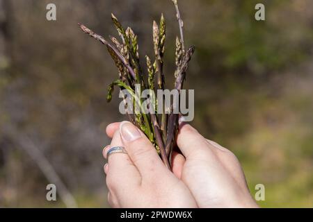
[[[111, 147], [124, 146], [104, 166], [112, 207], [197, 207], [191, 191], [163, 164], [154, 146], [136, 126], [114, 123], [106, 132]], [[109, 147], [104, 148], [104, 157]]]

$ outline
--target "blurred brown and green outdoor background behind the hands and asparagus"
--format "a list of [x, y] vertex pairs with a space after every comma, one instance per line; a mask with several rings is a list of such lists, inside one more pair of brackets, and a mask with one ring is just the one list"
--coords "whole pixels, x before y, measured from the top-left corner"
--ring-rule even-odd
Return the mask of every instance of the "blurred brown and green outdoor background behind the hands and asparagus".
[[[46, 19], [56, 4], [57, 21]], [[264, 3], [266, 21], [255, 5]], [[313, 206], [313, 1], [180, 0], [186, 44], [196, 53], [193, 126], [239, 158], [262, 207]], [[175, 70], [170, 0], [0, 0], [0, 207], [109, 207], [102, 147], [117, 71], [104, 46], [77, 22], [116, 35], [111, 12], [152, 56], [152, 20], [167, 19], [166, 79]], [[57, 184], [58, 200], [46, 200]], [[64, 186], [63, 186], [64, 185]], [[65, 199], [65, 203], [62, 198]]]

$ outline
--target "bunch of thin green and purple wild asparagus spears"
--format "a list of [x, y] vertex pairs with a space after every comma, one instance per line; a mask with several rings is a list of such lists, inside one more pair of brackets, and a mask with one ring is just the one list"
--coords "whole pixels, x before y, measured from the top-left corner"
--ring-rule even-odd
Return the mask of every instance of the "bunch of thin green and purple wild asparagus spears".
[[[186, 70], [188, 68], [188, 62], [191, 60], [191, 56], [194, 53], [194, 46], [189, 49], [185, 49], [184, 46], [184, 33], [183, 33], [183, 21], [180, 16], [177, 0], [172, 0], [177, 13], [177, 21], [179, 24], [180, 37], [176, 39], [176, 70], [175, 70], [175, 89], [179, 92], [183, 87], [184, 79], [186, 76]], [[115, 28], [120, 35], [121, 42], [115, 38], [110, 37], [111, 42], [108, 42], [97, 33], [94, 33], [83, 24], [79, 24], [81, 30], [87, 33], [91, 37], [94, 37], [99, 42], [102, 42], [108, 49], [111, 57], [113, 58], [116, 67], [118, 67], [119, 78], [109, 85], [108, 101], [112, 99], [112, 92], [115, 86], [120, 89], [127, 89], [129, 94], [135, 94], [135, 85], [141, 85], [141, 89], [165, 89], [165, 75], [163, 73], [163, 55], [165, 53], [165, 40], [166, 40], [166, 21], [161, 15], [159, 24], [153, 22], [153, 44], [154, 44], [154, 62], [145, 56], [147, 63], [147, 74], [144, 74], [140, 65], [140, 57], [138, 51], [138, 37], [135, 35], [131, 28], [123, 28], [122, 24], [112, 14], [112, 21]], [[157, 76], [157, 77], [155, 77]], [[154, 79], [157, 78], [157, 87], [154, 86]], [[146, 79], [146, 80], [145, 80]], [[147, 81], [147, 83], [146, 83]], [[139, 103], [141, 103], [139, 99]], [[156, 101], [157, 105], [158, 101]], [[157, 152], [161, 156], [162, 161], [166, 164], [166, 167], [170, 169], [170, 160], [173, 146], [175, 146], [175, 137], [178, 132], [178, 115], [173, 112], [173, 105], [170, 108], [166, 108], [163, 104], [163, 112], [158, 114], [157, 112], [145, 114], [127, 113], [129, 121], [134, 123], [140, 128], [143, 133], [150, 139], [150, 142], [154, 144]], [[165, 112], [169, 109], [170, 112]]]

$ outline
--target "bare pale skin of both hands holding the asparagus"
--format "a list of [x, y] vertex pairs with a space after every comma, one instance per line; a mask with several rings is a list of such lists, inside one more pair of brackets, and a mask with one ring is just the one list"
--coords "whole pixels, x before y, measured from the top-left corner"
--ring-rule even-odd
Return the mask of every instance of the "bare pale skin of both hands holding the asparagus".
[[[140, 136], [129, 142], [125, 132]], [[257, 207], [236, 156], [205, 139], [195, 128], [179, 126], [170, 172], [149, 140], [129, 122], [111, 123], [110, 147], [124, 146], [128, 154], [109, 156], [104, 166], [112, 207]]]

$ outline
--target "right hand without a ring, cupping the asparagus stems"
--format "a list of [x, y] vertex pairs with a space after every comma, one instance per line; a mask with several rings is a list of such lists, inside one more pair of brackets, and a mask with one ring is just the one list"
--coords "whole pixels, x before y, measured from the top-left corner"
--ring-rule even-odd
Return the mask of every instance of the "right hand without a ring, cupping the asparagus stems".
[[199, 207], [258, 207], [250, 196], [236, 156], [181, 124], [172, 170], [191, 190]]

